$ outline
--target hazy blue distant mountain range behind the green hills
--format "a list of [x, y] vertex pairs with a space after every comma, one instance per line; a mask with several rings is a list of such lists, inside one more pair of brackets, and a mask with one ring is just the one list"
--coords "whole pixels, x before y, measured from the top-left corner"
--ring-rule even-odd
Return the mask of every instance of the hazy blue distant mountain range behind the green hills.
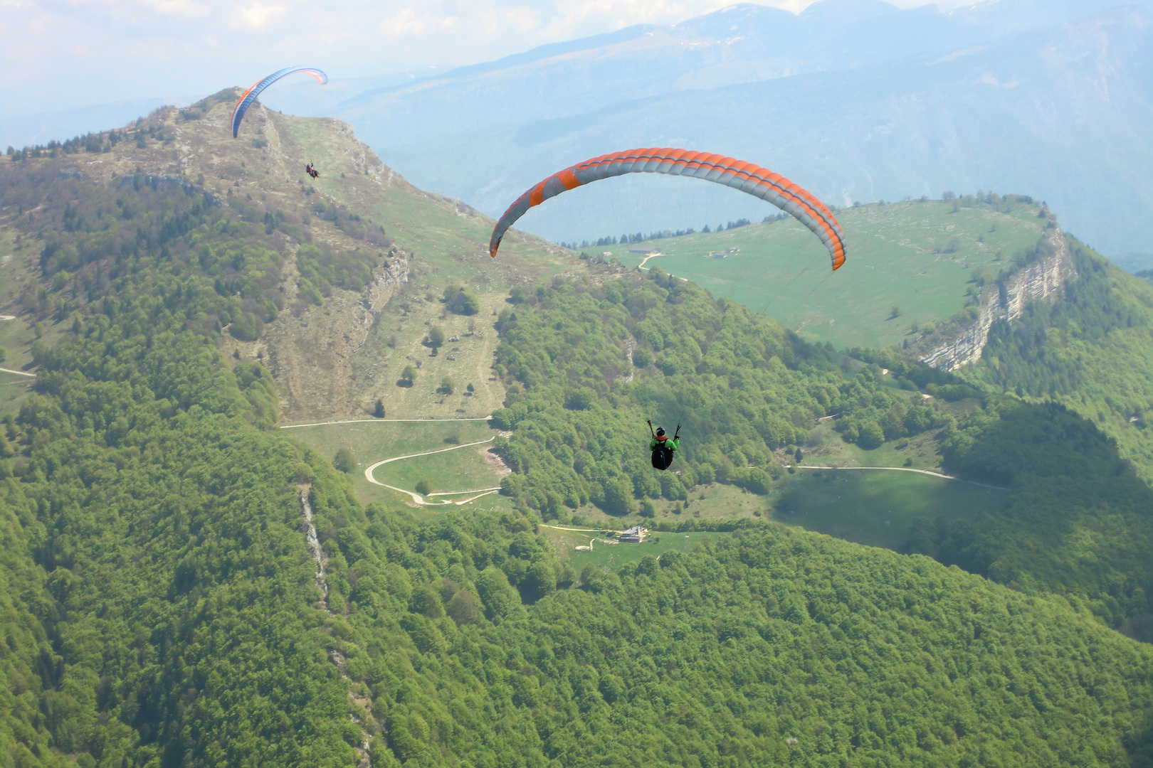
[[[417, 185], [490, 215], [571, 162], [683, 145], [759, 162], [837, 205], [1030, 193], [1103, 252], [1140, 253], [1153, 223], [1151, 18], [1147, 0], [989, 0], [949, 14], [744, 3], [413, 75], [325, 113]], [[302, 97], [269, 99], [304, 112]], [[571, 241], [770, 212], [713, 185], [630, 181], [521, 223]]]

